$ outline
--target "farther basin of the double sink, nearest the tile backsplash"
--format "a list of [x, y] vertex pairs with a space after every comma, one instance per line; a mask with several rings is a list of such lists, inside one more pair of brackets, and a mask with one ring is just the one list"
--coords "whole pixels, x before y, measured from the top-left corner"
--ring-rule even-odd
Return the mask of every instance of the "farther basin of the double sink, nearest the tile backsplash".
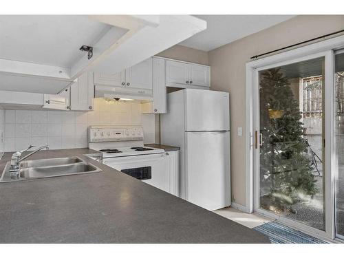
[[68, 158], [50, 158], [45, 160], [24, 160], [20, 162], [20, 168], [25, 169], [28, 167], [45, 167], [45, 166], [61, 166], [66, 164], [76, 164], [83, 162], [78, 157]]

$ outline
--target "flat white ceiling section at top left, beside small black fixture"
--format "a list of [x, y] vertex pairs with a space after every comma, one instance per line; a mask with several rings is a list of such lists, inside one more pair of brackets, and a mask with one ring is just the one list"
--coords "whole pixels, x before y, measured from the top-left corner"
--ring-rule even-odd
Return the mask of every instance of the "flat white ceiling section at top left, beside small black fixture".
[[0, 58], [69, 67], [110, 28], [87, 15], [0, 15]]

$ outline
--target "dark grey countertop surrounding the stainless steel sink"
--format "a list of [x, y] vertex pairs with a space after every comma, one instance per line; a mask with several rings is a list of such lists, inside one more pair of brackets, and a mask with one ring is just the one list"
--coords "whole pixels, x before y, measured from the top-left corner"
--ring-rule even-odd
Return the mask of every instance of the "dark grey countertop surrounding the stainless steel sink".
[[30, 159], [77, 155], [102, 172], [0, 184], [0, 243], [270, 243], [85, 153], [96, 151], [39, 151]]

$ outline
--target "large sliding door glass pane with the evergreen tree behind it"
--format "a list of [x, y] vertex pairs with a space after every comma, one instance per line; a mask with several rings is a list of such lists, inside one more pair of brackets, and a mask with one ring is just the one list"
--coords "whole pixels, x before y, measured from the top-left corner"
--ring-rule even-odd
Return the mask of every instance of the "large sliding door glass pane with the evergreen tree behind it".
[[259, 206], [321, 230], [324, 61], [259, 72]]

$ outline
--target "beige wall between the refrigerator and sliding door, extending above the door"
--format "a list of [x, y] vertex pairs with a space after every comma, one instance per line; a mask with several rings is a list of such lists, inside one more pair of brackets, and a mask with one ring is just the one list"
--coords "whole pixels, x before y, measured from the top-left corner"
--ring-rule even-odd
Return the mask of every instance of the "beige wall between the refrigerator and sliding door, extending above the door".
[[237, 136], [237, 128], [246, 131], [245, 65], [251, 61], [250, 56], [343, 30], [343, 26], [344, 15], [299, 15], [209, 52], [211, 89], [230, 92], [231, 181], [233, 201], [237, 204], [246, 205], [248, 142]]

